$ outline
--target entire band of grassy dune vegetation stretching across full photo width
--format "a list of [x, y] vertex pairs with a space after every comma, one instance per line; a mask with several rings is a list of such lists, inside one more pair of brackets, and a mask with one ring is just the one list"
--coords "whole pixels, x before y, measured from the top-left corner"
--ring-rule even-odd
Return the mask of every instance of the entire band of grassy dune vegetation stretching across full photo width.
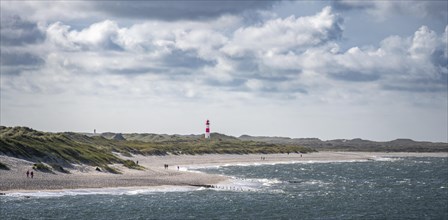
[[[129, 169], [144, 167], [129, 159], [140, 155], [169, 154], [270, 154], [308, 153], [316, 150], [383, 151], [383, 152], [448, 152], [447, 143], [415, 142], [398, 139], [374, 142], [361, 139], [321, 141], [316, 138], [291, 139], [282, 137], [239, 138], [212, 133], [211, 139], [202, 135], [166, 134], [79, 134], [49, 133], [26, 127], [0, 126], [0, 154], [36, 162], [33, 167], [43, 172], [68, 173], [72, 164], [86, 164], [111, 173], [120, 173], [110, 164], [122, 164]], [[303, 147], [305, 146], [305, 147]], [[46, 166], [42, 162], [49, 164]], [[9, 169], [0, 163], [0, 169]]]

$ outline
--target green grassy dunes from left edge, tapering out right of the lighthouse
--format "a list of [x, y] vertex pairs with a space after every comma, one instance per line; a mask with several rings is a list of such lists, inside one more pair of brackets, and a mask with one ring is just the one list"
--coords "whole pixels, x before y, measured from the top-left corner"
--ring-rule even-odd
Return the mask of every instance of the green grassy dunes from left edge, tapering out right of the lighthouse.
[[213, 133], [211, 140], [202, 135], [115, 134], [88, 136], [73, 132], [50, 133], [26, 127], [0, 127], [0, 154], [34, 162], [106, 166], [122, 163], [133, 166], [130, 161], [115, 156], [121, 153], [167, 155], [167, 154], [249, 154], [293, 153], [313, 150], [298, 145], [242, 141], [238, 138]]

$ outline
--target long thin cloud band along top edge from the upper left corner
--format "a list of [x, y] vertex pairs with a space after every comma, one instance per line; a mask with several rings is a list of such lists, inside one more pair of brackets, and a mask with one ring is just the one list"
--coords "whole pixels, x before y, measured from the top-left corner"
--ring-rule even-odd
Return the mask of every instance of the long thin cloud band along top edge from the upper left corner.
[[[260, 10], [268, 10], [280, 0], [219, 0], [219, 1], [42, 1], [2, 2], [2, 13], [20, 14], [34, 21], [92, 20], [158, 20], [205, 21], [226, 15], [258, 17]], [[70, 12], [70, 13], [68, 13]]]

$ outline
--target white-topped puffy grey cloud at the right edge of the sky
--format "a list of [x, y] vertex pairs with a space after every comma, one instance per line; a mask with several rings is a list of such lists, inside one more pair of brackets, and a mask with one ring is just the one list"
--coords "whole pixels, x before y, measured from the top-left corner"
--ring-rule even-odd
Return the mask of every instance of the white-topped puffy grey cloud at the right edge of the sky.
[[384, 89], [439, 92], [447, 89], [446, 45], [446, 31], [438, 35], [422, 26], [411, 37], [384, 39], [379, 48], [353, 47], [337, 54], [316, 48], [304, 53], [303, 59], [312, 63], [320, 57], [309, 70], [338, 80], [378, 81]]

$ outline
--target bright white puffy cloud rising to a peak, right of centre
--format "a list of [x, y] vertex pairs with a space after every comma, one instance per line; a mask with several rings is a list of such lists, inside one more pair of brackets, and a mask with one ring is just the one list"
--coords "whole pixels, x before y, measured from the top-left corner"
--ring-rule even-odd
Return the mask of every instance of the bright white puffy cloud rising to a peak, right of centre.
[[223, 48], [230, 56], [249, 51], [286, 53], [337, 40], [342, 36], [343, 19], [325, 7], [313, 16], [271, 19], [259, 26], [236, 30], [232, 42]]

